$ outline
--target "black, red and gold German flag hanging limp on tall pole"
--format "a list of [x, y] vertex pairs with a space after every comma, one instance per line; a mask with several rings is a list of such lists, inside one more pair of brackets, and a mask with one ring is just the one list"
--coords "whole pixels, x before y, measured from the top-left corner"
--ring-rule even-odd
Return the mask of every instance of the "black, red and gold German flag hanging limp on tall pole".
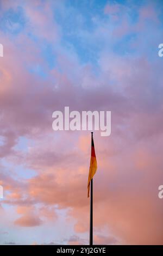
[[87, 181], [87, 197], [90, 196], [90, 182], [97, 170], [97, 161], [95, 154], [95, 146], [93, 142], [93, 132], [92, 133], [92, 142], [91, 142], [91, 162], [90, 162], [90, 170], [89, 170], [89, 178]]

